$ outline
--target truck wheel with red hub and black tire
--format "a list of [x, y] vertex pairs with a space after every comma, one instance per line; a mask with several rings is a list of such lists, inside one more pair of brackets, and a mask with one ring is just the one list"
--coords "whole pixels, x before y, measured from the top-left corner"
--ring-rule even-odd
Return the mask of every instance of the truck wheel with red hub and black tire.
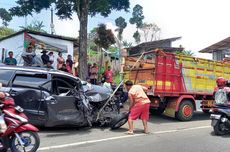
[[176, 118], [180, 121], [189, 121], [194, 114], [194, 106], [190, 100], [183, 100], [180, 104], [179, 110], [176, 113]]

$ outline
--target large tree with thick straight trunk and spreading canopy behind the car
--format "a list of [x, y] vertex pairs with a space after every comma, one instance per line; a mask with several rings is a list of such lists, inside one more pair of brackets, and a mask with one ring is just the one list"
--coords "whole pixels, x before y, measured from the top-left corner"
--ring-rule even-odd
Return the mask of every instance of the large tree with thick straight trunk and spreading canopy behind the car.
[[107, 17], [113, 10], [128, 11], [129, 0], [17, 0], [17, 6], [12, 7], [12, 15], [26, 16], [33, 12], [39, 13], [43, 9], [56, 7], [56, 15], [61, 19], [72, 19], [74, 13], [77, 13], [80, 21], [79, 33], [79, 75], [86, 80], [87, 68], [87, 25], [88, 16], [100, 14]]

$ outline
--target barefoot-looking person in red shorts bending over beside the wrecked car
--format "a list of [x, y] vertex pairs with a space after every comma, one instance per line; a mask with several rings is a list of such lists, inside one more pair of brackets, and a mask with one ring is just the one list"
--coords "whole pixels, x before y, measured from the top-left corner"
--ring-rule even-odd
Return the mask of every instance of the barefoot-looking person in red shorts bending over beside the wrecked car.
[[133, 120], [140, 118], [143, 122], [144, 133], [148, 134], [147, 121], [149, 120], [150, 100], [145, 94], [146, 87], [133, 85], [132, 81], [125, 82], [130, 100], [130, 114], [128, 118], [129, 130], [127, 134], [133, 134]]

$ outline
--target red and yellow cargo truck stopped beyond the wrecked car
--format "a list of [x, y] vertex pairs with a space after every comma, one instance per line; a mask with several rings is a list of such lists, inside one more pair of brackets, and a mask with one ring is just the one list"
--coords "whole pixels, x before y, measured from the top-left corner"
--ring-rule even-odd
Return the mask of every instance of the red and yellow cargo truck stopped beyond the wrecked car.
[[[140, 56], [140, 55], [139, 55]], [[191, 120], [196, 105], [207, 113], [213, 105], [216, 78], [230, 79], [230, 63], [154, 50], [139, 56], [125, 57], [124, 79], [149, 88], [151, 111]]]

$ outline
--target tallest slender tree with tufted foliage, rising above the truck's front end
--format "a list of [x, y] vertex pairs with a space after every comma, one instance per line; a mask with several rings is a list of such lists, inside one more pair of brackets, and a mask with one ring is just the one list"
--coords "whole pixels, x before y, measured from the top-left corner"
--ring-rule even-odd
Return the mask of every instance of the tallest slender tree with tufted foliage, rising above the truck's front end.
[[139, 4], [135, 5], [129, 22], [130, 24], [136, 24], [137, 31], [133, 34], [133, 38], [135, 39], [136, 43], [140, 43], [141, 41], [141, 36], [138, 29], [142, 27], [144, 18], [143, 7]]

